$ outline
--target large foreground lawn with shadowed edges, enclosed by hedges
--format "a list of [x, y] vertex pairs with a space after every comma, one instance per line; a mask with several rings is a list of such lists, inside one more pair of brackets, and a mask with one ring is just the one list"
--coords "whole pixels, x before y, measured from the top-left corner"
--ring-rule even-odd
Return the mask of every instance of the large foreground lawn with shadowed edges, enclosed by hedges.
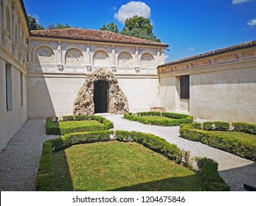
[[138, 143], [79, 144], [53, 153], [55, 191], [200, 191], [193, 171]]

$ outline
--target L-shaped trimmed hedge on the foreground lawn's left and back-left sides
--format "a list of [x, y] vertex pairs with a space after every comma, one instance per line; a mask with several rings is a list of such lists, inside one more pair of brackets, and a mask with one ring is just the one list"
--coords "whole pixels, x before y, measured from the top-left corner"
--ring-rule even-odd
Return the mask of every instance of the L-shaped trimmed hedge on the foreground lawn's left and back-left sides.
[[53, 191], [53, 151], [65, 149], [78, 143], [110, 141], [112, 134], [114, 134], [114, 131], [80, 132], [45, 141], [38, 168], [36, 191]]

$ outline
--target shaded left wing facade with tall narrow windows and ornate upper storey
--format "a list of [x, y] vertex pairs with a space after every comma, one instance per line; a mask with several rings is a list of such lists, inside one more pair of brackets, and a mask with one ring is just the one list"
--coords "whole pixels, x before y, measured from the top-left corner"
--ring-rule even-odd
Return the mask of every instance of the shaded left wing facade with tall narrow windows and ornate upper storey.
[[0, 11], [1, 150], [27, 120], [26, 39], [29, 32], [20, 1], [1, 0]]

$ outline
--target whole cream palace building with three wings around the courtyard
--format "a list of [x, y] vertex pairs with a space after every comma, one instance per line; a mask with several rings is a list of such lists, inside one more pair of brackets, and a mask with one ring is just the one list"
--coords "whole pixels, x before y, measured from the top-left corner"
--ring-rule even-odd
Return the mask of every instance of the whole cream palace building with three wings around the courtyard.
[[166, 43], [30, 31], [22, 0], [0, 0], [0, 11], [0, 149], [28, 118], [158, 108], [256, 123], [256, 41], [165, 63]]

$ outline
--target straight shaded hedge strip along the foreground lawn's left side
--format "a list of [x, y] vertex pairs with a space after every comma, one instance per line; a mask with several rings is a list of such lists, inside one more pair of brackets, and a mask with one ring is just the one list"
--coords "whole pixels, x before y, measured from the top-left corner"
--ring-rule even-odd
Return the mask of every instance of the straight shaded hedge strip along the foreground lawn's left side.
[[52, 191], [53, 189], [52, 141], [43, 143], [42, 157], [38, 167], [35, 183], [36, 191]]

